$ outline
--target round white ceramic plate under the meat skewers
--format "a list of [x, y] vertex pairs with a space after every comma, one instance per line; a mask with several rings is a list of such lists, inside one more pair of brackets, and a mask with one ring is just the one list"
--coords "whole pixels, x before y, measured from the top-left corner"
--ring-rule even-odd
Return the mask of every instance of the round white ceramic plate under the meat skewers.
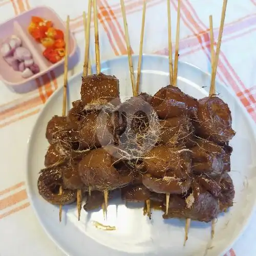
[[[133, 56], [137, 67], [138, 56]], [[115, 74], [120, 80], [121, 96], [131, 96], [131, 82], [127, 56], [105, 61], [101, 70]], [[168, 84], [168, 58], [143, 55], [141, 91], [156, 93]], [[196, 98], [207, 96], [210, 76], [187, 63], [179, 63], [178, 87]], [[68, 105], [80, 98], [81, 74], [69, 80]], [[206, 88], [202, 88], [206, 86]], [[210, 224], [193, 221], [188, 241], [183, 247], [184, 221], [163, 221], [162, 212], [153, 211], [152, 221], [143, 216], [142, 209], [126, 208], [123, 202], [114, 202], [108, 207], [108, 221], [103, 220], [102, 211], [88, 214], [82, 209], [81, 220], [77, 220], [75, 204], [63, 207], [62, 222], [58, 221], [58, 207], [47, 203], [37, 191], [38, 172], [44, 167], [44, 156], [48, 148], [45, 131], [53, 115], [61, 114], [62, 88], [47, 101], [35, 123], [29, 139], [27, 155], [27, 189], [36, 215], [52, 240], [68, 255], [223, 255], [242, 234], [252, 214], [256, 195], [256, 139], [253, 126], [240, 101], [225, 86], [217, 83], [217, 92], [228, 103], [233, 118], [230, 173], [236, 196], [234, 206], [218, 217], [215, 238], [210, 239]], [[115, 231], [97, 229], [92, 221], [116, 226]]]

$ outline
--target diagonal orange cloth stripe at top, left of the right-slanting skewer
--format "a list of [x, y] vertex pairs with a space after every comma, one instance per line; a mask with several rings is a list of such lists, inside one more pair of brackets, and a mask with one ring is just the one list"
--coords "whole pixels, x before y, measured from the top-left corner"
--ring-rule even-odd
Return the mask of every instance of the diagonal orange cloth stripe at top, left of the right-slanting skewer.
[[[104, 7], [103, 2], [105, 3], [106, 8], [108, 8], [109, 11]], [[107, 18], [107, 17], [111, 17], [109, 20], [108, 20], [108, 19], [106, 19], [106, 20], [107, 20], [107, 22], [108, 22], [108, 24], [109, 24], [109, 27], [110, 27], [110, 29], [111, 29], [113, 35], [114, 35], [114, 38], [115, 38], [115, 40], [116, 40], [116, 43], [117, 43], [117, 45], [118, 45], [118, 48], [119, 48], [121, 54], [127, 54], [127, 48], [126, 48], [126, 46], [124, 45], [124, 42], [125, 42], [124, 33], [123, 33], [123, 30], [122, 30], [122, 28], [121, 28], [121, 26], [120, 26], [120, 24], [119, 24], [119, 22], [118, 22], [118, 20], [117, 20], [117, 18], [116, 18], [116, 16], [115, 16], [115, 13], [113, 12], [113, 10], [111, 9], [111, 7], [109, 6], [108, 2], [106, 2], [105, 0], [103, 0], [103, 1], [100, 1], [100, 3], [101, 3], [101, 5], [102, 5], [102, 7], [100, 8], [102, 15], [103, 15], [104, 17], [106, 17], [106, 18]], [[111, 16], [110, 16], [110, 15], [111, 15]], [[119, 32], [117, 31], [114, 22], [116, 23], [117, 28], [118, 28], [118, 30], [119, 30], [119, 32], [120, 32], [121, 35], [120, 35]], [[132, 52], [132, 53], [133, 53], [133, 52]]]

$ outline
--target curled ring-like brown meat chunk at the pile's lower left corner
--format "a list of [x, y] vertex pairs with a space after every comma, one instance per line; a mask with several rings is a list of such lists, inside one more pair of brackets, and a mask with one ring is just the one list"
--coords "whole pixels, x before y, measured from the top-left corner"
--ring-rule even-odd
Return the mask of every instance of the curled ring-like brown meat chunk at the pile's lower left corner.
[[63, 185], [62, 166], [55, 166], [43, 170], [37, 180], [37, 188], [42, 198], [52, 204], [71, 204], [76, 201], [76, 191], [63, 189], [59, 194], [59, 187]]

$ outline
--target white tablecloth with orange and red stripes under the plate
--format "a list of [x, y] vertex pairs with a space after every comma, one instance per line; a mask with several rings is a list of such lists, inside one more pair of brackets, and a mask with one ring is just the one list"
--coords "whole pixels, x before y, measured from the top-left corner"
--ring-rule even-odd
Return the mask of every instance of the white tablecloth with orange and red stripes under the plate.
[[[63, 20], [71, 17], [80, 56], [84, 53], [82, 0], [0, 0], [0, 22], [30, 8], [52, 7]], [[171, 0], [173, 31], [176, 27], [177, 0]], [[222, 0], [182, 0], [180, 60], [203, 71], [210, 69], [209, 15], [213, 15], [218, 37]], [[101, 59], [126, 54], [124, 30], [118, 0], [98, 0]], [[125, 0], [131, 46], [139, 52], [142, 0]], [[93, 23], [92, 23], [93, 26]], [[256, 121], [256, 1], [229, 0], [225, 19], [218, 76], [236, 92], [251, 118]], [[173, 36], [175, 33], [172, 33]], [[255, 37], [254, 37], [255, 36]], [[93, 46], [94, 38], [91, 37]], [[144, 53], [168, 54], [166, 0], [147, 0]], [[175, 38], [173, 38], [173, 41]], [[93, 47], [92, 47], [93, 49]], [[70, 71], [81, 71], [79, 64]], [[1, 68], [1, 67], [0, 67]], [[0, 81], [0, 255], [62, 255], [50, 241], [30, 207], [25, 190], [25, 148], [38, 111], [62, 84], [62, 71], [55, 70], [31, 84], [10, 90]], [[249, 228], [226, 255], [256, 255], [254, 233], [256, 215]]]

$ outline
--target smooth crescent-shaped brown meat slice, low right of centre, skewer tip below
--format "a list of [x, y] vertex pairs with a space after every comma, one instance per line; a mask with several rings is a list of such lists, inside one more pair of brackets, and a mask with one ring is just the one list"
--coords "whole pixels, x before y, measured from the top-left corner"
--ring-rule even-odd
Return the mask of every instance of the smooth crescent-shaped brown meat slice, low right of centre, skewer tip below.
[[[167, 174], [169, 175], [169, 174]], [[143, 175], [142, 183], [145, 187], [159, 194], [184, 194], [190, 188], [191, 179], [180, 179], [172, 176], [163, 178], [152, 177], [150, 174]]]

